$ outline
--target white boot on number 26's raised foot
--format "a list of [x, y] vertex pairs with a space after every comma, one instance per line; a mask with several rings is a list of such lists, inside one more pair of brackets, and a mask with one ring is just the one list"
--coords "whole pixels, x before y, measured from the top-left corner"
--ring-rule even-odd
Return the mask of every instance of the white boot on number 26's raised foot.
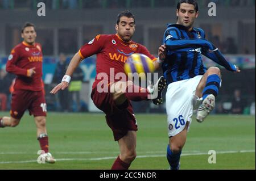
[[196, 120], [202, 123], [215, 106], [215, 96], [210, 94], [202, 102], [197, 110]]

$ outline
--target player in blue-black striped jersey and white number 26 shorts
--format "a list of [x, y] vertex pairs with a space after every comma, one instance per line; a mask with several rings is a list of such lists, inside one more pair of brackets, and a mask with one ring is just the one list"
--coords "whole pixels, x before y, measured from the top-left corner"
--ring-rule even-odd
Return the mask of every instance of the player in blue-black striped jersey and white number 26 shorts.
[[[213, 110], [221, 86], [221, 71], [217, 67], [208, 70], [201, 54], [229, 71], [240, 72], [212, 43], [205, 40], [200, 28], [193, 28], [198, 5], [195, 0], [180, 0], [177, 4], [177, 23], [168, 24], [164, 32], [164, 45], [159, 48], [164, 78], [167, 80], [166, 111], [168, 119], [167, 159], [170, 169], [179, 169], [183, 148], [193, 110], [200, 123]], [[201, 99], [200, 99], [201, 98]], [[201, 104], [201, 105], [200, 105]]]

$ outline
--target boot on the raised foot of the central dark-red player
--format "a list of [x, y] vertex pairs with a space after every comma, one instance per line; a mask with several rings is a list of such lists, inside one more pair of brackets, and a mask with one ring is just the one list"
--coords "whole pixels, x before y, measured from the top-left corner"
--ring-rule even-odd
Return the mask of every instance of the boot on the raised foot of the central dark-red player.
[[152, 102], [155, 105], [163, 103], [162, 92], [166, 87], [166, 79], [162, 76], [158, 79], [155, 85], [150, 85], [147, 87], [148, 92], [151, 94]]

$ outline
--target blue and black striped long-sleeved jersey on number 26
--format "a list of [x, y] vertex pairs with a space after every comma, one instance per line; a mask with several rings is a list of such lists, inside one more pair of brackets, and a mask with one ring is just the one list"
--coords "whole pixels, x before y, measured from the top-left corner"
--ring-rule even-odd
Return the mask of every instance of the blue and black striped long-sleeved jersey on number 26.
[[162, 69], [168, 84], [204, 75], [207, 68], [201, 54], [230, 71], [236, 71], [236, 66], [226, 61], [220, 50], [205, 40], [205, 32], [201, 28], [188, 31], [180, 24], [168, 24], [163, 44], [167, 45], [167, 57]]

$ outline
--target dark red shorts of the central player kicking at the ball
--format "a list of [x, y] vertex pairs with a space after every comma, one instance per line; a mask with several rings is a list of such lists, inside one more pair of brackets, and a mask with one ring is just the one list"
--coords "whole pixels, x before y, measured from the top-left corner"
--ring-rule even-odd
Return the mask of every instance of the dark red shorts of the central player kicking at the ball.
[[112, 129], [114, 140], [118, 141], [128, 131], [137, 131], [137, 123], [130, 100], [122, 106], [116, 106], [110, 92], [92, 90], [90, 95], [95, 106], [106, 114], [106, 122]]

